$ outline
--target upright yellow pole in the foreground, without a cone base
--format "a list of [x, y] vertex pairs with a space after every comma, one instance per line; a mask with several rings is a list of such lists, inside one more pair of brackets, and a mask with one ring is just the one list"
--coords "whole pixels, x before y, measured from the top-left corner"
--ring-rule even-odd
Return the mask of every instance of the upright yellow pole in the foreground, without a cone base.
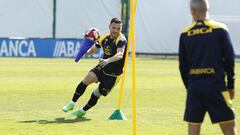
[[137, 134], [137, 107], [136, 107], [136, 49], [135, 49], [135, 34], [134, 34], [134, 24], [135, 24], [135, 11], [137, 0], [131, 0], [131, 41], [132, 41], [132, 105], [133, 105], [133, 135]]

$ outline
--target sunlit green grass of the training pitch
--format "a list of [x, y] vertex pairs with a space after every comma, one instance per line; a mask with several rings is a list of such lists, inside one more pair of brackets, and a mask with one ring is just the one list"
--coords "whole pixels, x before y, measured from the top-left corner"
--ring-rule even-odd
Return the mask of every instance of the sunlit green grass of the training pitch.
[[[75, 87], [96, 65], [97, 59], [0, 58], [0, 135], [131, 135], [131, 60], [128, 61], [122, 112], [126, 121], [111, 121], [119, 96], [117, 85], [83, 119], [61, 111]], [[185, 135], [186, 91], [177, 60], [137, 58], [137, 135]], [[234, 100], [240, 131], [240, 63], [236, 63]], [[77, 108], [86, 103], [97, 84], [89, 86]], [[76, 108], [75, 108], [76, 109]], [[221, 134], [209, 117], [203, 135]]]

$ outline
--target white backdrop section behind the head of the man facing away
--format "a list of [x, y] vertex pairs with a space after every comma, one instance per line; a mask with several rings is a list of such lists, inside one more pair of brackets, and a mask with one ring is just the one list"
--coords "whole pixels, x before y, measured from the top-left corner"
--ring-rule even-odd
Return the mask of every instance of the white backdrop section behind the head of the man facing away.
[[[240, 0], [210, 0], [210, 16], [228, 26], [236, 54], [240, 54]], [[192, 22], [189, 0], [138, 0], [136, 51], [178, 53], [179, 36]]]

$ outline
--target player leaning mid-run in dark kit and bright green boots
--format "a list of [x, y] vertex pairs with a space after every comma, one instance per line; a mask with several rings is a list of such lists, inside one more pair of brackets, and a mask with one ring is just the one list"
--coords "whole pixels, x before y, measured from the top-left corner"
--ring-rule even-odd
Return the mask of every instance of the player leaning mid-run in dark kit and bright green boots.
[[102, 47], [104, 56], [102, 59], [99, 59], [97, 66], [89, 71], [87, 76], [77, 86], [72, 100], [62, 108], [64, 112], [73, 110], [74, 105], [85, 92], [88, 85], [100, 82], [87, 104], [72, 113], [76, 117], [84, 116], [90, 108], [96, 105], [101, 96], [107, 96], [111, 89], [118, 83], [120, 75], [123, 72], [127, 40], [121, 33], [122, 22], [120, 19], [113, 18], [110, 22], [109, 30], [110, 33], [101, 36], [99, 42], [87, 52], [88, 54], [94, 54]]

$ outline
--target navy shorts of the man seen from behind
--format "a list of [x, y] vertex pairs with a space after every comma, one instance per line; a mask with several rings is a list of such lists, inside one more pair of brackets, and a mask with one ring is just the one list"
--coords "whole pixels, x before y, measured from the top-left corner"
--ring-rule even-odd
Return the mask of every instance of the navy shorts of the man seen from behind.
[[188, 85], [184, 120], [202, 123], [206, 112], [212, 123], [234, 120], [229, 92], [219, 86], [214, 79], [209, 78], [192, 81]]

